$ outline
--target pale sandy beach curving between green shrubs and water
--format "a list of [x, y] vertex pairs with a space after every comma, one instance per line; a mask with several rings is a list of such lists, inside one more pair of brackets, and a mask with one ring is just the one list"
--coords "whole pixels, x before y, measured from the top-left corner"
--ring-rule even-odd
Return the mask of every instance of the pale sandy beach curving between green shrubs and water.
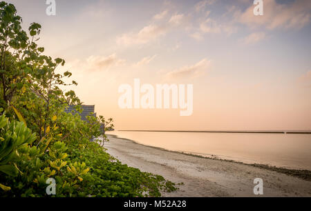
[[109, 136], [113, 157], [144, 172], [160, 174], [178, 185], [163, 197], [258, 197], [255, 178], [263, 179], [263, 197], [311, 197], [311, 181], [251, 165], [171, 152]]

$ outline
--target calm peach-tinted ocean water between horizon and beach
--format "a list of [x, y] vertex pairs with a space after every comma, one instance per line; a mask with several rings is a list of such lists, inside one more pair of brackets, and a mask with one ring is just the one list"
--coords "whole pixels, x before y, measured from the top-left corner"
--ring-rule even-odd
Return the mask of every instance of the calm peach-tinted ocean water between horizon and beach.
[[107, 132], [166, 150], [311, 170], [311, 134]]

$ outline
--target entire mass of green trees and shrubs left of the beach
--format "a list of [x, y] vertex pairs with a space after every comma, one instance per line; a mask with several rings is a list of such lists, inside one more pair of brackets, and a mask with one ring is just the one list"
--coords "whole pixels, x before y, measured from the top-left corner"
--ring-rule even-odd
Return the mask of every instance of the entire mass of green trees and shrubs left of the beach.
[[57, 183], [55, 197], [159, 197], [176, 190], [163, 177], [122, 165], [90, 140], [113, 129], [113, 119], [64, 112], [82, 111], [79, 98], [59, 73], [64, 59], [37, 46], [41, 26], [21, 28], [15, 6], [0, 2], [0, 197], [48, 197], [46, 181]]

